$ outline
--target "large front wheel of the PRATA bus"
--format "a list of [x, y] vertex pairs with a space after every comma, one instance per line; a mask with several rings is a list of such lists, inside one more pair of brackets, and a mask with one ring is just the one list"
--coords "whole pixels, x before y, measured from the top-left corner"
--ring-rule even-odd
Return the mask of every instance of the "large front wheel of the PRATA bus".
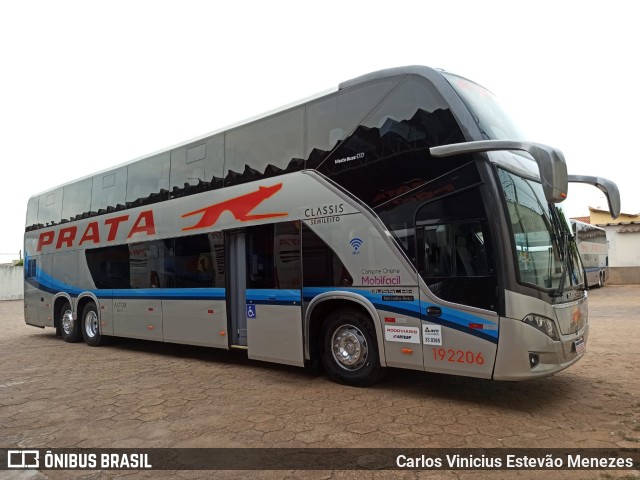
[[322, 327], [322, 364], [339, 383], [365, 387], [384, 375], [371, 321], [356, 310], [336, 310]]

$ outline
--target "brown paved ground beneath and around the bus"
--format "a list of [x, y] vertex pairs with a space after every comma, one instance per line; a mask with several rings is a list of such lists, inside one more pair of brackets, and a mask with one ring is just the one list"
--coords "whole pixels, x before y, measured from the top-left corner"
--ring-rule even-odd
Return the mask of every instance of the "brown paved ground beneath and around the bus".
[[[492, 382], [392, 370], [337, 385], [243, 352], [67, 344], [0, 302], [0, 447], [640, 448], [640, 285], [589, 292], [585, 357]], [[638, 471], [0, 471], [0, 478], [640, 478]]]

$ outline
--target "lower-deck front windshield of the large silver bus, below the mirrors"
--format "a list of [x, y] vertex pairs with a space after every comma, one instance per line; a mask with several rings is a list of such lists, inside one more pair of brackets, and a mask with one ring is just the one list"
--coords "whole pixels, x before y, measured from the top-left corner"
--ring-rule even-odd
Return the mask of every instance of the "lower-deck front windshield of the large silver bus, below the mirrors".
[[503, 169], [498, 169], [498, 175], [507, 201], [520, 281], [552, 289], [552, 295], [582, 288], [575, 240], [562, 213], [545, 202], [542, 185]]

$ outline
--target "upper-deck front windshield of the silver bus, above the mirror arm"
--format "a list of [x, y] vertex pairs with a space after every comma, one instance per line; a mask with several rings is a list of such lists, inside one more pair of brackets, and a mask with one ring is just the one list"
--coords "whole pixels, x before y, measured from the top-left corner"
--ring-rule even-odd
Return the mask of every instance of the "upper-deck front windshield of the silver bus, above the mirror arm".
[[493, 93], [466, 78], [443, 75], [462, 98], [486, 140], [527, 140]]

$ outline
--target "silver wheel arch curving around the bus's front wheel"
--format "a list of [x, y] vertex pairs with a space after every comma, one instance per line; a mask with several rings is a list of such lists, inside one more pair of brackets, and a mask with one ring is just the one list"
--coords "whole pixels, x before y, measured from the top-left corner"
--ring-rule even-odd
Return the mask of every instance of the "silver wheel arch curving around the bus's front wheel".
[[386, 367], [384, 335], [382, 326], [380, 325], [378, 311], [368, 299], [353, 292], [326, 292], [314, 297], [313, 300], [309, 302], [304, 317], [305, 358], [307, 360], [319, 358], [322, 324], [331, 312], [341, 308], [360, 310], [371, 320], [376, 332], [380, 366]]

